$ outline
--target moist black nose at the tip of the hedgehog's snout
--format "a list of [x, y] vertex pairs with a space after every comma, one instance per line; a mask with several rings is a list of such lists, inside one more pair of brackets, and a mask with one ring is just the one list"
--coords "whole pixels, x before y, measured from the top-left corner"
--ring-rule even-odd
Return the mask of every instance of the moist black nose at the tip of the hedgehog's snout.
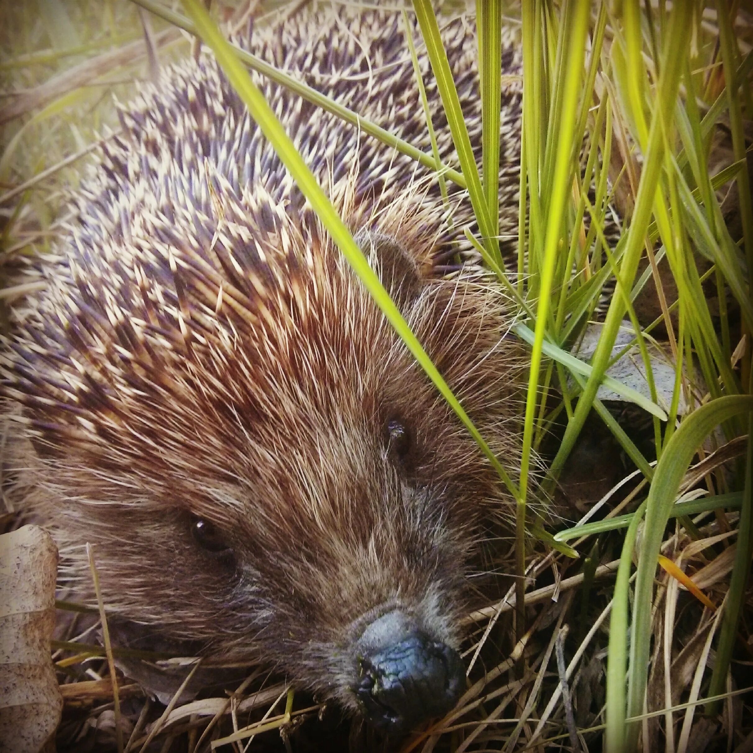
[[465, 688], [458, 652], [398, 612], [380, 617], [361, 643], [370, 650], [358, 657], [355, 695], [370, 724], [391, 734], [447, 713]]

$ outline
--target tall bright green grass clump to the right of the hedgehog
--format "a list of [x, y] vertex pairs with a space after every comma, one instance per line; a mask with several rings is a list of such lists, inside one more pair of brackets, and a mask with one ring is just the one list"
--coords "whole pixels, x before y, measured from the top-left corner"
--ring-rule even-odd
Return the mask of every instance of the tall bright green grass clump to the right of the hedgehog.
[[[655, 579], [660, 551], [670, 534], [667, 520], [694, 456], [703, 457], [711, 441], [724, 444], [749, 434], [751, 426], [753, 309], [748, 270], [753, 234], [742, 130], [743, 111], [750, 104], [742, 51], [747, 48], [749, 59], [750, 47], [738, 44], [733, 12], [723, 3], [713, 8], [675, 3], [670, 11], [664, 4], [652, 8], [623, 2], [597, 5], [591, 13], [583, 5], [563, 2], [557, 12], [547, 2], [523, 3], [521, 190], [528, 201], [521, 207], [528, 216], [520, 225], [525, 273], [521, 288], [535, 316], [523, 453], [526, 457], [537, 447], [547, 411], [563, 409], [566, 428], [550, 466], [551, 485], [565, 468], [590, 411], [596, 409], [649, 482], [648, 496], [623, 541], [609, 628], [605, 748], [630, 751], [636, 749], [641, 731], [636, 718], [650, 703], [648, 677], [661, 638], [655, 633], [656, 610], [667, 586], [665, 582], [657, 590]], [[709, 31], [710, 38], [702, 41]], [[584, 81], [586, 87], [581, 85]], [[706, 111], [704, 117], [700, 108]], [[730, 123], [734, 167], [722, 178], [709, 166], [709, 142], [723, 109]], [[749, 110], [746, 115], [751, 117]], [[609, 175], [615, 147], [623, 164], [620, 172]], [[717, 194], [722, 180], [727, 183], [730, 178], [739, 195], [740, 216], [745, 216], [742, 238], [730, 236]], [[610, 204], [622, 215], [614, 243], [606, 238]], [[664, 281], [656, 261], [660, 256], [666, 258], [671, 276]], [[638, 276], [642, 260], [647, 260], [647, 273]], [[700, 269], [700, 261], [711, 264], [721, 306], [739, 310], [734, 334], [730, 319], [715, 317], [709, 308], [701, 284], [708, 270]], [[657, 290], [667, 279], [676, 287], [674, 316], [666, 298], [658, 295], [675, 383], [664, 388], [667, 416], [662, 420], [654, 413], [652, 419], [658, 461], [653, 470], [599, 404], [599, 385], [614, 360], [620, 328], [632, 330], [636, 357], [639, 353], [643, 360], [651, 400], [657, 403], [646, 348], [653, 323], [642, 325], [634, 308], [651, 278]], [[588, 377], [576, 377], [571, 386], [561, 365], [539, 370], [544, 343], [571, 350], [606, 300]], [[687, 394], [691, 385], [700, 389], [700, 401], [679, 416], [681, 392]], [[551, 407], [546, 398], [553, 390], [562, 395], [562, 403]], [[709, 494], [721, 483], [741, 490], [743, 499], [729, 590], [724, 604], [715, 606], [721, 610], [717, 661], [710, 680], [703, 679], [702, 666], [698, 669], [710, 697], [722, 694], [730, 679], [730, 655], [745, 601], [751, 553], [750, 460], [748, 450], [747, 465], [739, 462], [730, 477], [708, 478]], [[526, 492], [521, 477], [523, 500]], [[675, 535], [700, 538], [690, 521]], [[671, 638], [671, 626], [664, 630], [665, 640]], [[671, 656], [672, 646], [664, 651]], [[674, 724], [671, 713], [666, 724]], [[645, 745], [646, 729], [644, 725]], [[666, 749], [674, 749], [671, 726], [664, 733]]]

